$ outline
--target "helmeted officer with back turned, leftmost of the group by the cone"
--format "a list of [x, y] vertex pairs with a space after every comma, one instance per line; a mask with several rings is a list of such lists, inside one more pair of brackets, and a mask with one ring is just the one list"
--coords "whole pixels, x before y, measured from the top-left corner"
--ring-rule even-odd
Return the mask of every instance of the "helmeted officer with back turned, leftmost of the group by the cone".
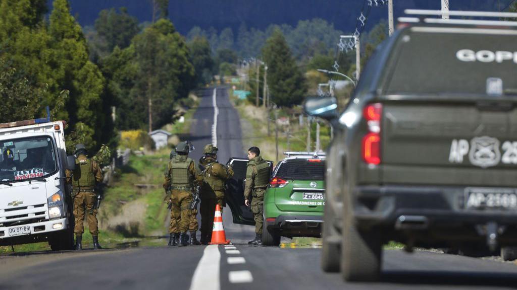
[[176, 241], [180, 247], [188, 245], [187, 230], [191, 220], [192, 190], [194, 183], [202, 180], [188, 154], [188, 144], [179, 143], [176, 146], [176, 155], [172, 156], [165, 173], [163, 188], [171, 190], [172, 202], [169, 246], [175, 246]]

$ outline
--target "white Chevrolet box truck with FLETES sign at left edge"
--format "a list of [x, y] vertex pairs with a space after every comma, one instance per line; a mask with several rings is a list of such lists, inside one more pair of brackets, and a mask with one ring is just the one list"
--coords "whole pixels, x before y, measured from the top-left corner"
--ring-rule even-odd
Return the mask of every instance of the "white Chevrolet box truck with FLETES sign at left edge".
[[49, 117], [0, 124], [0, 246], [48, 241], [52, 250], [73, 248], [65, 170], [74, 162], [64, 126]]

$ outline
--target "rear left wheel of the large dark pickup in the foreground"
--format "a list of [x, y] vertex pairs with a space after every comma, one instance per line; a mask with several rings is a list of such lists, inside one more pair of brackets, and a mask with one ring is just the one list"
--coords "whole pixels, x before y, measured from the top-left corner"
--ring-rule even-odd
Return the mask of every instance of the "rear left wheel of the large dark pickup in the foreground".
[[[349, 214], [345, 214], [348, 216]], [[341, 272], [346, 281], [377, 281], [381, 274], [382, 242], [375, 229], [359, 231], [351, 217], [343, 220]]]

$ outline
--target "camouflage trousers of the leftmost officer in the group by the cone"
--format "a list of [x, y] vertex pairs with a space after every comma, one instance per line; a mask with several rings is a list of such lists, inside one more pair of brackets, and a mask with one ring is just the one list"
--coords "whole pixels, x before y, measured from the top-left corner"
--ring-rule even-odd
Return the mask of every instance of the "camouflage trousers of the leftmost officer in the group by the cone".
[[173, 219], [177, 224], [177, 232], [187, 232], [192, 215], [190, 211], [190, 204], [192, 203], [192, 192], [173, 189], [171, 192], [171, 201], [171, 219]]

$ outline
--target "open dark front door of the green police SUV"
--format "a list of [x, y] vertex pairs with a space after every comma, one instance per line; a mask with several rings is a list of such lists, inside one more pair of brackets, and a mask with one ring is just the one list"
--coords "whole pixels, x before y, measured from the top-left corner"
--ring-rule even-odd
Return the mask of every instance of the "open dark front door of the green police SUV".
[[[268, 161], [269, 167], [272, 168], [273, 163]], [[248, 166], [248, 158], [232, 157], [226, 163], [231, 165], [234, 175], [226, 181], [226, 204], [230, 206], [232, 211], [233, 222], [237, 224], [255, 225], [251, 208], [244, 205], [244, 181], [246, 179], [246, 167]], [[271, 171], [270, 171], [271, 172]]]

